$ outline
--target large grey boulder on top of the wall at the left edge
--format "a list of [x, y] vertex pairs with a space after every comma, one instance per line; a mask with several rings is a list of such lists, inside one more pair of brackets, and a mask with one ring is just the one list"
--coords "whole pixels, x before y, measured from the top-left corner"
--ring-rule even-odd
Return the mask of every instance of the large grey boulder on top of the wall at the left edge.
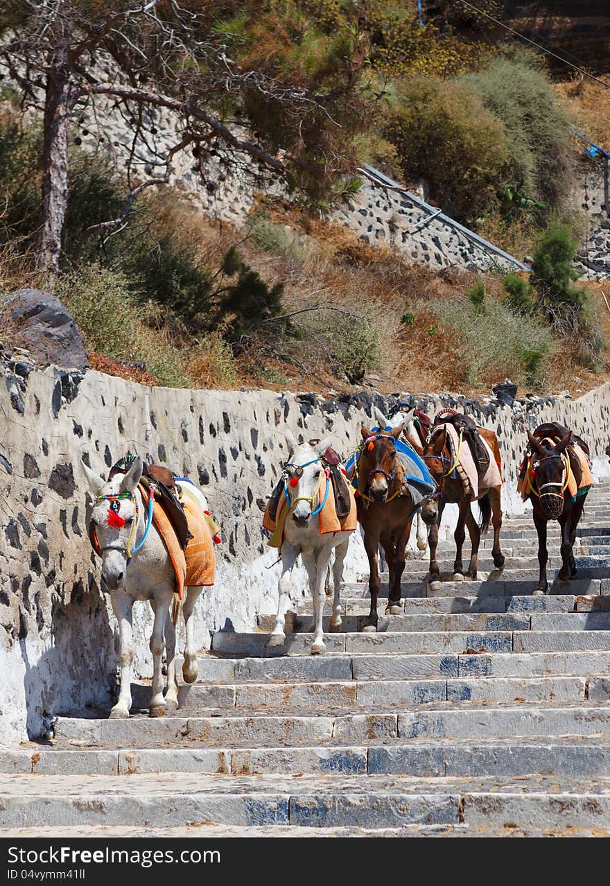
[[89, 368], [81, 330], [62, 302], [49, 292], [12, 292], [4, 304], [0, 329], [8, 332], [12, 346], [25, 349], [37, 365]]

